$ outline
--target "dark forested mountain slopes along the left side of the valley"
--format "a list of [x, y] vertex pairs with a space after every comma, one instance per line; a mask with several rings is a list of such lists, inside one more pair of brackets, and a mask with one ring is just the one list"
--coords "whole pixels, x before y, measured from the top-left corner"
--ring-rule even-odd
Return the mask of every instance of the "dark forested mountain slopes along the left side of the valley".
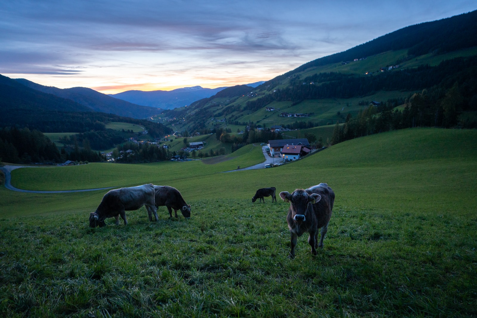
[[[136, 119], [138, 116], [133, 113], [135, 109], [138, 110], [137, 113], [146, 111], [140, 115], [142, 118], [149, 116], [149, 113], [162, 111], [124, 102], [87, 88], [61, 90], [0, 75], [0, 128], [27, 127], [43, 133], [84, 133], [92, 130], [104, 133], [105, 124], [126, 122], [146, 127], [153, 137], [163, 136], [171, 131], [162, 124]], [[117, 113], [125, 113], [126, 116]]]

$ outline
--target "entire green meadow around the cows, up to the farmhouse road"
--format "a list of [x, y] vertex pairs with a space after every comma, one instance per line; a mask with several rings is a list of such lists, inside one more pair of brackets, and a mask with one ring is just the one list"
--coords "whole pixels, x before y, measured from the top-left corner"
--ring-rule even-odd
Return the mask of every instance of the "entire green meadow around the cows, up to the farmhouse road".
[[[475, 130], [406, 129], [336, 144], [296, 163], [249, 145], [217, 164], [21, 168], [13, 185], [58, 190], [152, 182], [178, 188], [189, 220], [158, 208], [88, 227], [106, 191], [0, 188], [4, 317], [476, 317]], [[326, 182], [336, 193], [324, 248], [289, 259], [289, 204], [256, 189]], [[278, 193], [277, 193], [278, 196]]]

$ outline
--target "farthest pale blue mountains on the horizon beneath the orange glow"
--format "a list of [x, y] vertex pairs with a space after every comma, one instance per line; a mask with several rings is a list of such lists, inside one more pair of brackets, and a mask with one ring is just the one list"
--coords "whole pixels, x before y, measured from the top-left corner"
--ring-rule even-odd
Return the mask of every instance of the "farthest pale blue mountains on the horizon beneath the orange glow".
[[[264, 81], [247, 84], [255, 88]], [[190, 105], [191, 103], [209, 98], [216, 93], [222, 91], [225, 87], [218, 88], [203, 88], [201, 86], [178, 88], [172, 91], [126, 91], [117, 94], [109, 94], [109, 96], [118, 98], [130, 103], [135, 103], [143, 106], [157, 107], [162, 109], [174, 109]]]

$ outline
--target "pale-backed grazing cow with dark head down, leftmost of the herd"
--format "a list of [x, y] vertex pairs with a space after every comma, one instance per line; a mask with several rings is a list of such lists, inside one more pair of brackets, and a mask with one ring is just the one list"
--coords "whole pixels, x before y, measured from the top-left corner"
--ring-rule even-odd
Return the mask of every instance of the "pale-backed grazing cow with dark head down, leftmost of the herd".
[[123, 218], [124, 225], [127, 225], [124, 211], [137, 210], [143, 205], [146, 207], [149, 221], [152, 221], [152, 213], [157, 221], [153, 184], [111, 190], [103, 196], [96, 211], [90, 213], [90, 227], [103, 227], [106, 225], [104, 219], [113, 216], [116, 218], [116, 225], [119, 225], [119, 215]]

